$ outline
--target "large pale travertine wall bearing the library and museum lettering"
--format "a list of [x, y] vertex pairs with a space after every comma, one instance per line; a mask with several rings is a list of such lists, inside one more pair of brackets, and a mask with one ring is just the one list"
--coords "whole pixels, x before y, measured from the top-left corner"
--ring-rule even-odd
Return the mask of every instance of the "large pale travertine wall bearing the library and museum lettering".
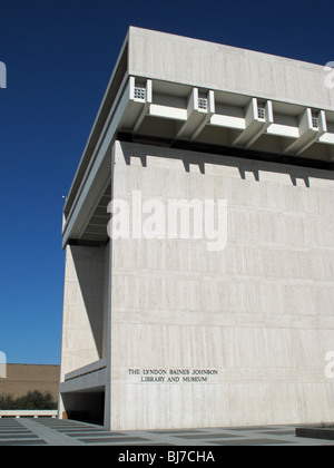
[[[116, 142], [114, 197], [132, 191], [227, 199], [228, 240], [112, 242], [110, 427], [333, 421], [333, 174]], [[217, 373], [146, 382], [146, 369]]]

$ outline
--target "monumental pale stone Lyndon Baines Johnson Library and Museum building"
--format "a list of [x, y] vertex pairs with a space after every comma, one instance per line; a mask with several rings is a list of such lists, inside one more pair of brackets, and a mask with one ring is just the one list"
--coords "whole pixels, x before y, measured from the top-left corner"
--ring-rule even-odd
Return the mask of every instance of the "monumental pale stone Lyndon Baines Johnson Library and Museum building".
[[60, 417], [111, 430], [333, 421], [325, 78], [129, 28], [63, 209]]

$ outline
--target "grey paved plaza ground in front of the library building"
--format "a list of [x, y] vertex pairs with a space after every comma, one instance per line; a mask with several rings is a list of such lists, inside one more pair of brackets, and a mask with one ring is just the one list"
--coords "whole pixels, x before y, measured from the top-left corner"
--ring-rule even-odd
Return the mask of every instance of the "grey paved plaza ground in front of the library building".
[[334, 446], [296, 438], [294, 427], [215, 428], [110, 432], [101, 427], [51, 418], [0, 419], [0, 446]]

